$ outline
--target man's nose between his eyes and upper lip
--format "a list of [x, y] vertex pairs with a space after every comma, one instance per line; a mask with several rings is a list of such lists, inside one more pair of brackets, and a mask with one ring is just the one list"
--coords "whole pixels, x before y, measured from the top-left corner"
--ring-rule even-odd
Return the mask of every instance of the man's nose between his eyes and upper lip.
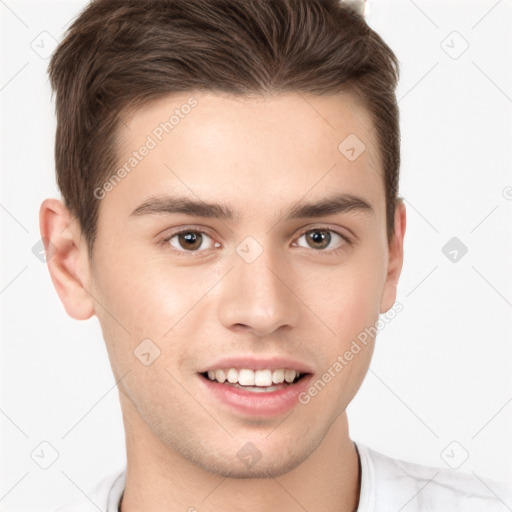
[[224, 327], [263, 337], [298, 325], [300, 301], [293, 293], [293, 275], [279, 259], [267, 249], [252, 262], [234, 254], [234, 268], [222, 280], [218, 309]]

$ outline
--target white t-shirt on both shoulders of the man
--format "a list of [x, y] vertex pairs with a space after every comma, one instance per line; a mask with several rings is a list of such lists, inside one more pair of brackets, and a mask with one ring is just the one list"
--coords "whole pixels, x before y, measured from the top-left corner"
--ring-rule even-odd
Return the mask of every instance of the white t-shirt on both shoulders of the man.
[[[357, 512], [506, 512], [512, 484], [449, 468], [423, 466], [388, 457], [354, 441], [361, 461]], [[104, 478], [87, 497], [55, 512], [118, 512], [125, 468]], [[318, 512], [318, 511], [311, 511]]]

